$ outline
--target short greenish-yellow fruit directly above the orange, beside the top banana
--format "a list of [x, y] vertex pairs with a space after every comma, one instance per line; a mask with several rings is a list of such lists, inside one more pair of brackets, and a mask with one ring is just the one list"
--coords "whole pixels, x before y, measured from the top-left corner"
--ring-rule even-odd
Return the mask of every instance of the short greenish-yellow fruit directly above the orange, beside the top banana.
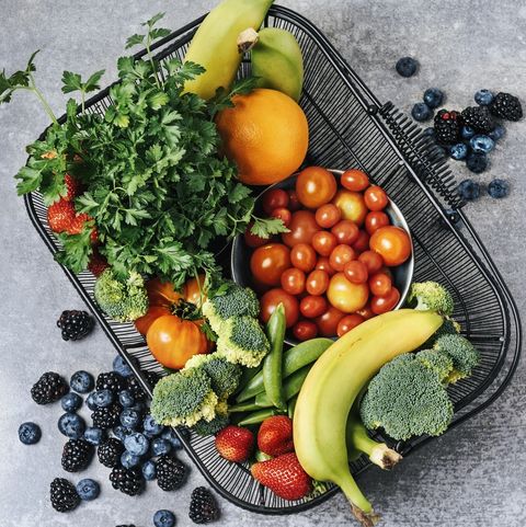
[[260, 88], [278, 90], [299, 101], [304, 87], [304, 58], [291, 33], [277, 27], [260, 31], [252, 48], [252, 75]]

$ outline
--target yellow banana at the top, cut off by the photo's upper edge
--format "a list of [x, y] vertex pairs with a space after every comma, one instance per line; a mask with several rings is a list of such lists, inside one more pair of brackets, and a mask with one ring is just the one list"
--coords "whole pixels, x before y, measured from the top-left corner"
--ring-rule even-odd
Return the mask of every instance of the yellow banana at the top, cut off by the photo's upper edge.
[[230, 88], [242, 58], [238, 51], [238, 36], [249, 27], [258, 30], [272, 2], [224, 0], [208, 13], [184, 57], [185, 61], [196, 62], [206, 71], [186, 82], [185, 91], [208, 100], [218, 88]]

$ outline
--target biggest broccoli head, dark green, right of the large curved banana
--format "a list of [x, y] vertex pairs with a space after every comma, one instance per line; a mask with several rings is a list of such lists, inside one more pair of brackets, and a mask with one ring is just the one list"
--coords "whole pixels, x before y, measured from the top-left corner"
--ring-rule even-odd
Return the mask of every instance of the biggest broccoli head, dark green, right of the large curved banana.
[[369, 429], [384, 428], [393, 439], [444, 433], [453, 403], [437, 375], [413, 354], [386, 364], [369, 382], [361, 416]]

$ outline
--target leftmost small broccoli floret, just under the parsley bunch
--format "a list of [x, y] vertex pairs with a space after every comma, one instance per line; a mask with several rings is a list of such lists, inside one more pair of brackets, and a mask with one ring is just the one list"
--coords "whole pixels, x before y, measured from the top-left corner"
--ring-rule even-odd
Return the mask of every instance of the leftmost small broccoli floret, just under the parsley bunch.
[[139, 273], [119, 279], [107, 268], [96, 278], [94, 297], [99, 307], [117, 322], [133, 322], [148, 311], [148, 293]]

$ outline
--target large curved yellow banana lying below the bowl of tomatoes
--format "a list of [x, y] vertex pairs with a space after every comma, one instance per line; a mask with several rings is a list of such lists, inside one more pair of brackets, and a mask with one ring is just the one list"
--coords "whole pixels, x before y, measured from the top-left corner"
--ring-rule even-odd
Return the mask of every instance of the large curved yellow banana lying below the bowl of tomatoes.
[[398, 355], [423, 344], [442, 324], [432, 311], [401, 309], [375, 317], [338, 340], [315, 363], [294, 412], [299, 462], [316, 480], [338, 484], [364, 526], [378, 516], [356, 485], [347, 462], [345, 427], [359, 391]]

